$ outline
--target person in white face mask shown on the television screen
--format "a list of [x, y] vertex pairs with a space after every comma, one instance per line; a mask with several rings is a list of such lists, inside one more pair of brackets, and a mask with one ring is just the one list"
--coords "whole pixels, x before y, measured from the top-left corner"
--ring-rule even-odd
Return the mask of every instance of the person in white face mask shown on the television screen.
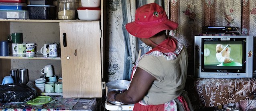
[[230, 57], [231, 47], [229, 44], [217, 44], [216, 45], [216, 58], [220, 62], [217, 66], [242, 66], [241, 63], [235, 62]]

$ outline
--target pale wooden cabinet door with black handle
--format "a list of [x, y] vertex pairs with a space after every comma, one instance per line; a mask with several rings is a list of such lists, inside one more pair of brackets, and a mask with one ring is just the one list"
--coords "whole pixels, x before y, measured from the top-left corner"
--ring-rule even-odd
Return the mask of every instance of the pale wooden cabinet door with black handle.
[[63, 97], [102, 97], [100, 21], [61, 22], [60, 36]]

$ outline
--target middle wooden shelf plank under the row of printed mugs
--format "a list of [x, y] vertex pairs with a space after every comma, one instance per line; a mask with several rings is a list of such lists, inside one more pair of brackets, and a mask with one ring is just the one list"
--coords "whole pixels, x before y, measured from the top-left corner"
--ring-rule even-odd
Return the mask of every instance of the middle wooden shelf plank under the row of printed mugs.
[[39, 59], [39, 60], [61, 60], [60, 56], [57, 57], [45, 57], [43, 55], [35, 55], [35, 56], [17, 56], [17, 55], [10, 55], [10, 56], [0, 56], [0, 58], [5, 59]]

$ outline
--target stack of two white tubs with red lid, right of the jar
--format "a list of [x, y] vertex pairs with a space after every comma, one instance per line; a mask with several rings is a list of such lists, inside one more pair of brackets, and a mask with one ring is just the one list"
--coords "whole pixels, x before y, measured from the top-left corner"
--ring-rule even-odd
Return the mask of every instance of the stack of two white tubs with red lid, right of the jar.
[[100, 19], [100, 0], [81, 0], [82, 7], [77, 8], [80, 20]]

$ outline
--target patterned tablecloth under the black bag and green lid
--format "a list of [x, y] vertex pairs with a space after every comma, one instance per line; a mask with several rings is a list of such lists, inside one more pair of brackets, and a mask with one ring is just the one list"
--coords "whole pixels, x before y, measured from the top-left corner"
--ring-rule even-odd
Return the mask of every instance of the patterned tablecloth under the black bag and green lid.
[[0, 111], [63, 111], [63, 110], [85, 110], [94, 111], [97, 108], [95, 98], [63, 98], [62, 96], [50, 96], [52, 103], [43, 105], [29, 105], [26, 102], [0, 103]]

